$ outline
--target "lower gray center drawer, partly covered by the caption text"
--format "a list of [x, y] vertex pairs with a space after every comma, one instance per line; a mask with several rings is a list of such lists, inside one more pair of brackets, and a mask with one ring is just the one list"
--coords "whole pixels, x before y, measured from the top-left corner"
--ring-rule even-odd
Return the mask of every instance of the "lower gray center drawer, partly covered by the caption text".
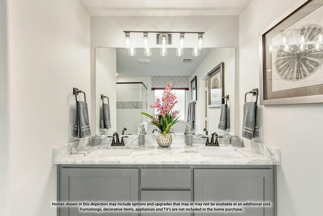
[[[177, 191], [177, 190], [148, 190], [141, 191], [141, 202], [191, 202], [191, 191]], [[168, 207], [168, 206], [165, 206]], [[152, 215], [191, 215], [191, 212], [177, 212], [177, 211], [161, 211], [141, 212], [141, 216]]]

